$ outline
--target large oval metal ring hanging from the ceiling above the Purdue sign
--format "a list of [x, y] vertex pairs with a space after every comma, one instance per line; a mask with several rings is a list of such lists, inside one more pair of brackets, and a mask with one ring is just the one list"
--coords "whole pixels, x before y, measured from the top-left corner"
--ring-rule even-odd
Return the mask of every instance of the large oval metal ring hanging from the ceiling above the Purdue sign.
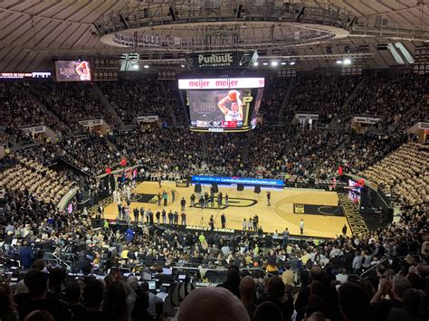
[[[206, 5], [206, 4], [205, 4]], [[310, 30], [297, 22], [296, 12], [299, 12], [301, 5], [243, 5], [242, 16], [236, 17], [236, 8], [241, 3], [232, 1], [227, 5], [217, 7], [198, 6], [195, 4], [182, 4], [174, 6], [173, 10], [176, 19], [172, 19], [170, 5], [138, 4], [127, 5], [120, 11], [103, 15], [95, 23], [98, 26], [100, 35], [113, 34], [111, 41], [130, 47], [158, 48], [159, 50], [180, 50], [198, 51], [206, 49], [224, 49], [227, 44], [235, 48], [253, 48], [260, 46], [277, 45], [299, 45], [312, 41], [330, 39], [335, 33], [329, 30]], [[300, 16], [302, 24], [319, 24], [335, 26], [345, 29], [351, 14], [333, 5], [306, 5], [305, 12]], [[246, 33], [242, 28], [243, 22], [269, 23], [263, 28], [268, 30], [272, 36], [256, 35], [251, 25], [251, 33]], [[271, 23], [283, 25], [284, 30], [275, 34], [270, 32]], [[195, 23], [205, 24], [204, 27]], [[231, 28], [222, 28], [224, 23]], [[192, 28], [194, 36], [182, 37], [180, 34], [170, 34], [158, 26], [171, 24], [194, 24]], [[214, 24], [214, 29], [210, 29], [210, 24]], [[235, 29], [234, 29], [235, 26]], [[147, 27], [143, 33], [138, 28]], [[152, 30], [157, 27], [156, 30]], [[149, 30], [150, 28], [150, 30]], [[183, 28], [183, 26], [182, 26]], [[256, 28], [256, 27], [255, 27]], [[259, 26], [261, 28], [261, 26]], [[126, 32], [127, 29], [135, 29]], [[250, 30], [249, 29], [249, 30]], [[294, 30], [300, 31], [299, 39], [296, 38]], [[162, 32], [167, 34], [161, 34]], [[190, 29], [191, 31], [191, 29]], [[219, 33], [225, 33], [221, 37]], [[212, 37], [212, 35], [214, 37]], [[221, 39], [222, 38], [222, 39]], [[214, 39], [217, 39], [218, 42]]]

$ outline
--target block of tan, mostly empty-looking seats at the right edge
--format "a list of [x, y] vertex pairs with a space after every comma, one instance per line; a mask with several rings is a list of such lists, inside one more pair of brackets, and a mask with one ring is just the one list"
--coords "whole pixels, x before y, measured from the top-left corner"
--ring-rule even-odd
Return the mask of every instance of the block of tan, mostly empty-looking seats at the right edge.
[[396, 194], [412, 204], [429, 202], [429, 148], [408, 143], [360, 175], [378, 184], [387, 194]]

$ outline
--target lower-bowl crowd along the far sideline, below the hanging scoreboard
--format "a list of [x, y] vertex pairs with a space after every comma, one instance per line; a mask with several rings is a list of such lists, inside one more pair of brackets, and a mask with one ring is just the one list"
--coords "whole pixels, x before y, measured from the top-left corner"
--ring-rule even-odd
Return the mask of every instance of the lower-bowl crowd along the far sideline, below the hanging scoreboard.
[[[259, 127], [247, 134], [148, 128], [112, 134], [109, 139], [95, 134], [76, 140], [65, 137], [24, 153], [35, 154], [42, 163], [61, 156], [92, 175], [103, 174], [108, 167], [116, 169], [126, 158], [128, 165], [146, 165], [161, 175], [204, 172], [284, 179], [285, 175], [332, 176], [339, 165], [346, 173], [358, 174], [398, 146], [390, 137], [294, 126]], [[339, 148], [341, 144], [344, 147]]]

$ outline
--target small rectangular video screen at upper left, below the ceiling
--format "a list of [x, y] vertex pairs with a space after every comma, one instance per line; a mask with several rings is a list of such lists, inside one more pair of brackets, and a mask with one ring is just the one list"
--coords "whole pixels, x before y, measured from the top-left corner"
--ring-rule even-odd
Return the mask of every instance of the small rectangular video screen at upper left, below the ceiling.
[[88, 61], [55, 61], [57, 81], [91, 81]]

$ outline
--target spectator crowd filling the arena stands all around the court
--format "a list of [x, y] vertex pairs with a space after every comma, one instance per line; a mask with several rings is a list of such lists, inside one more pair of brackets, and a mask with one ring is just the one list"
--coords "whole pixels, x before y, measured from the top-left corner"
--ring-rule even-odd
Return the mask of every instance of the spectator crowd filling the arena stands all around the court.
[[[6, 133], [19, 139], [22, 126], [46, 124], [62, 135], [8, 152], [2, 161], [0, 319], [159, 319], [163, 300], [142, 277], [147, 271], [160, 277], [167, 267], [194, 286], [217, 284], [186, 292], [170, 311], [177, 320], [427, 320], [428, 150], [413, 137], [390, 135], [427, 117], [427, 81], [384, 74], [272, 79], [260, 116], [287, 126], [234, 135], [169, 127], [186, 123], [172, 82], [1, 82]], [[384, 134], [301, 127], [292, 121], [297, 111], [318, 111], [324, 123], [374, 115]], [[119, 128], [148, 114], [157, 114], [160, 124]], [[109, 135], [73, 136], [79, 120], [94, 117], [110, 124]], [[94, 225], [86, 208], [71, 215], [57, 207], [71, 188], [97, 182], [48, 167], [58, 159], [93, 176], [125, 159], [160, 181], [204, 173], [318, 179], [337, 175], [341, 166], [392, 194], [399, 219], [367, 233], [301, 240], [286, 227], [263, 233], [254, 220], [234, 233], [186, 230], [185, 211], [139, 209], [131, 220], [127, 206], [125, 226], [110, 225], [100, 205]]]

